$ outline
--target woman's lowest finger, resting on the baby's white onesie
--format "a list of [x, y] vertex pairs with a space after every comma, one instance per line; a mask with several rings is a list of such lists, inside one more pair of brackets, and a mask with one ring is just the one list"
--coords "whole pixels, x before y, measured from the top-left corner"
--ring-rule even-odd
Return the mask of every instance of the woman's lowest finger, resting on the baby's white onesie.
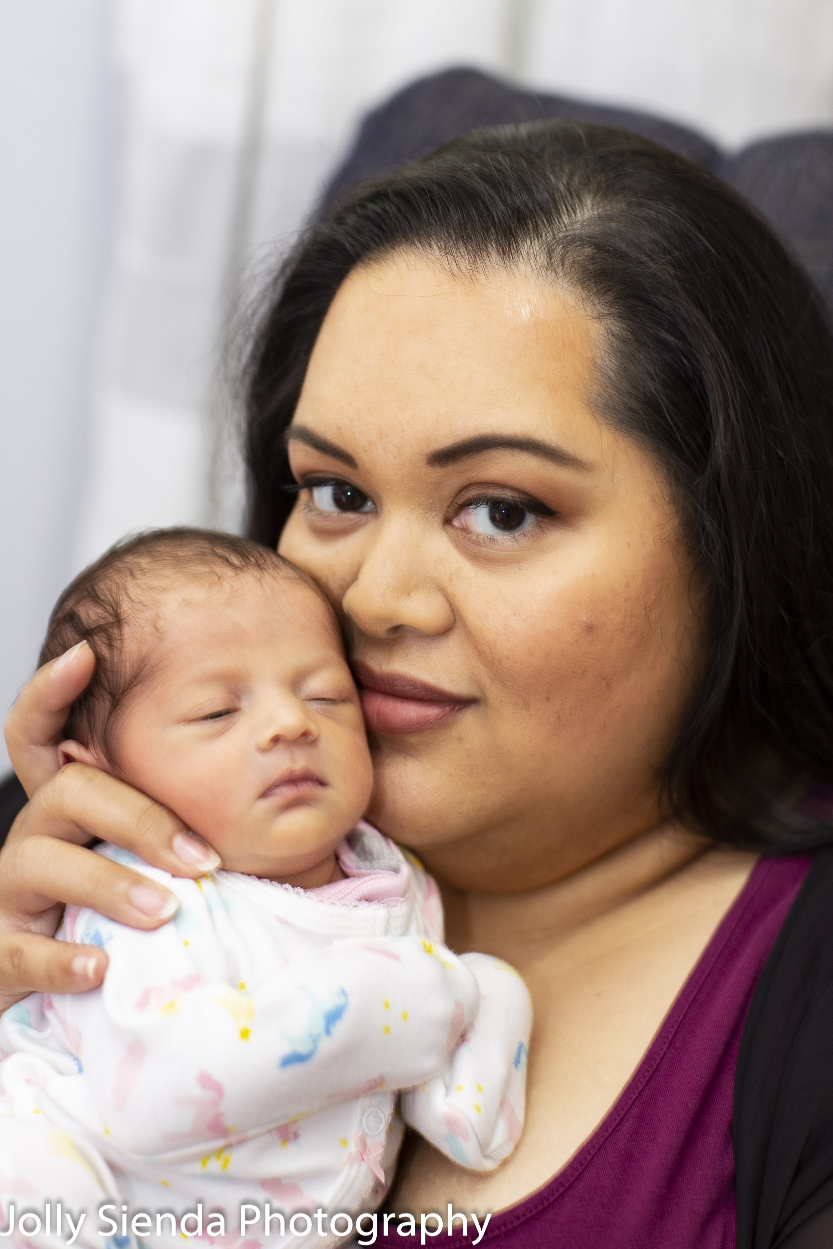
[[27, 993], [85, 993], [104, 979], [107, 955], [27, 932], [0, 933], [0, 1012]]

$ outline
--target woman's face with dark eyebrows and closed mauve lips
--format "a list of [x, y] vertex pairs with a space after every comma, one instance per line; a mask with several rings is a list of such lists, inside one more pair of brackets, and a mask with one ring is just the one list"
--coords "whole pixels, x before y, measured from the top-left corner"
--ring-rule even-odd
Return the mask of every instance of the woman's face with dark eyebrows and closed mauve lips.
[[552, 882], [662, 818], [696, 577], [657, 465], [591, 408], [603, 350], [531, 274], [401, 254], [342, 285], [288, 430], [280, 551], [343, 620], [370, 818], [461, 888]]

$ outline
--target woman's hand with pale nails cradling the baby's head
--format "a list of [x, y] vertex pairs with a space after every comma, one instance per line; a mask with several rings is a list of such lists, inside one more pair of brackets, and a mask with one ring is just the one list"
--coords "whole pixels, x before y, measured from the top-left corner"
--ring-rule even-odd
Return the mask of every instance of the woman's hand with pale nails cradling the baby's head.
[[39, 668], [6, 719], [9, 754], [30, 801], [0, 853], [0, 1010], [26, 993], [79, 993], [104, 979], [102, 949], [52, 940], [65, 903], [131, 928], [159, 928], [176, 911], [167, 889], [85, 848], [94, 838], [172, 876], [194, 878], [220, 864], [201, 838], [145, 794], [96, 768], [59, 767], [69, 707], [94, 667], [81, 642]]

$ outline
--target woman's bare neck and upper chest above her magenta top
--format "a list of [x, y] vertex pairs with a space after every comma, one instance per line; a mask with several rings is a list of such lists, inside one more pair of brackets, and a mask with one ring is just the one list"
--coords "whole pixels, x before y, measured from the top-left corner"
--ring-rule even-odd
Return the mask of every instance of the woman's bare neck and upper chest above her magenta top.
[[480, 1175], [417, 1145], [393, 1208], [452, 1194], [485, 1213], [559, 1170], [637, 1069], [754, 862], [664, 824], [526, 893], [445, 891], [448, 944], [505, 958], [532, 995], [526, 1125], [512, 1157]]

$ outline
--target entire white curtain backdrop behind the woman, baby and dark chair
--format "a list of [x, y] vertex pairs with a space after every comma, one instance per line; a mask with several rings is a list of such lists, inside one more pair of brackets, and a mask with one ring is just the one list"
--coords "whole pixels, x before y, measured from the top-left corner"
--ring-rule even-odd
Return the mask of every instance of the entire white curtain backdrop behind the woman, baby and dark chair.
[[361, 115], [461, 64], [727, 146], [833, 125], [831, 0], [0, 0], [2, 707], [111, 541], [239, 523], [229, 311]]

